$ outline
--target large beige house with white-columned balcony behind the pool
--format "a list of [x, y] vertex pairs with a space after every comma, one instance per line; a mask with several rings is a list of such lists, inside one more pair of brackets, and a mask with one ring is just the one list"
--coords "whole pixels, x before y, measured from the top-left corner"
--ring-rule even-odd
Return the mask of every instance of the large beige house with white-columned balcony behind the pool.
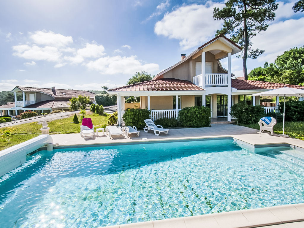
[[[189, 56], [181, 55], [181, 61], [157, 74], [151, 81], [109, 89], [108, 92], [118, 98], [119, 124], [125, 111], [125, 96], [140, 96], [140, 108], [151, 110], [152, 119], [176, 118], [178, 111], [184, 107], [204, 105], [211, 109], [212, 118], [224, 117], [231, 121], [231, 105], [239, 101], [260, 104], [260, 98], [251, 94], [283, 86], [304, 89], [299, 85], [232, 79], [231, 55], [240, 51], [240, 46], [219, 35]], [[227, 70], [219, 62], [224, 58], [227, 58]]]

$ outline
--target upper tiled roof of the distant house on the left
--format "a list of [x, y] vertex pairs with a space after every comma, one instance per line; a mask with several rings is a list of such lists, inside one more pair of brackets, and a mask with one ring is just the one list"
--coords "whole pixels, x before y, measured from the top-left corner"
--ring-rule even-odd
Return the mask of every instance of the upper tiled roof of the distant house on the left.
[[68, 98], [78, 97], [78, 95], [89, 96], [91, 99], [95, 98], [95, 93], [88, 92], [85, 90], [69, 90], [69, 89], [55, 89], [53, 91], [51, 88], [35, 88], [35, 87], [23, 87], [17, 86], [20, 90], [24, 92], [42, 92], [51, 95], [54, 98]]

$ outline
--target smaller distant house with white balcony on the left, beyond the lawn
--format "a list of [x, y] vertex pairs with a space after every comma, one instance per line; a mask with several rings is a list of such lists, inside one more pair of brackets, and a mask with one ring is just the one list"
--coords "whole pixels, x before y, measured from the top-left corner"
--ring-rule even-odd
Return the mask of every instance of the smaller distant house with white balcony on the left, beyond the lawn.
[[[54, 110], [69, 110], [71, 98], [85, 95], [95, 102], [96, 95], [83, 90], [55, 89], [54, 86], [52, 88], [17, 86], [11, 92], [15, 94], [15, 102], [0, 105], [1, 115], [16, 116], [25, 111], [50, 113]], [[17, 101], [17, 93], [22, 93], [22, 101]]]

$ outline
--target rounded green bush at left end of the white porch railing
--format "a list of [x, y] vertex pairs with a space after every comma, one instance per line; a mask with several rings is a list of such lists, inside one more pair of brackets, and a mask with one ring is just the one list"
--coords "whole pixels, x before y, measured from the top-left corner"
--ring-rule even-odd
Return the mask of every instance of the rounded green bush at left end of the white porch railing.
[[150, 119], [148, 109], [128, 109], [123, 114], [123, 121], [126, 126], [136, 126], [138, 129], [143, 129], [146, 126], [145, 119]]

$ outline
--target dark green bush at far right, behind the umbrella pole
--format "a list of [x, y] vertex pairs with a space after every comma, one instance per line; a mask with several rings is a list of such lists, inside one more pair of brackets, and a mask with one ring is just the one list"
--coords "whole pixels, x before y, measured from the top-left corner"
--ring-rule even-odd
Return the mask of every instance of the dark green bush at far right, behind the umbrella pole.
[[[284, 102], [280, 102], [279, 111], [283, 113]], [[285, 102], [285, 120], [304, 121], [304, 102], [292, 100]]]

